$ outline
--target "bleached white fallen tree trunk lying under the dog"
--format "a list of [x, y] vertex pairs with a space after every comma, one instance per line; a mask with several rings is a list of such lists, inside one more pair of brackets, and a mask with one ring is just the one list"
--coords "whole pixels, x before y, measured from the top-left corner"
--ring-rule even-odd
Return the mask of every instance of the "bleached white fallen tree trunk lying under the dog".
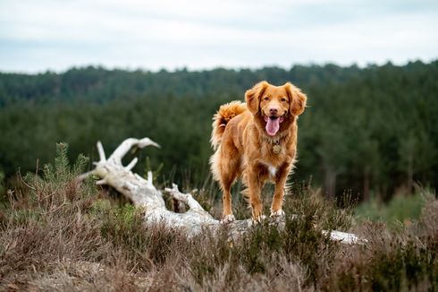
[[[146, 146], [159, 147], [156, 142], [149, 138], [140, 140], [129, 138], [122, 142], [114, 150], [113, 154], [106, 159], [102, 143], [97, 142], [100, 160], [95, 162], [95, 169], [83, 174], [80, 176], [80, 179], [90, 175], [99, 176], [100, 180], [97, 181], [97, 185], [110, 185], [114, 187], [119, 193], [131, 199], [135, 206], [144, 210], [145, 224], [161, 222], [170, 228], [180, 229], [188, 236], [195, 236], [206, 229], [216, 232], [219, 228], [224, 228], [223, 224], [204, 210], [190, 193], [181, 193], [177, 185], [173, 185], [172, 189], [166, 188], [164, 191], [170, 193], [174, 200], [184, 203], [189, 210], [183, 213], [168, 210], [164, 203], [163, 193], [153, 185], [152, 173], [149, 172], [147, 179], [145, 179], [131, 172], [132, 167], [138, 161], [137, 158], [132, 159], [128, 166], [122, 166], [122, 158], [131, 148], [144, 148]], [[275, 224], [279, 224], [281, 228], [284, 221], [276, 221]], [[246, 219], [232, 221], [226, 224], [225, 228], [227, 228], [230, 236], [235, 238], [246, 232], [251, 226], [252, 221]], [[362, 241], [358, 236], [350, 233], [334, 230], [324, 231], [325, 234], [329, 232], [333, 240], [338, 240], [345, 244], [355, 244]]]

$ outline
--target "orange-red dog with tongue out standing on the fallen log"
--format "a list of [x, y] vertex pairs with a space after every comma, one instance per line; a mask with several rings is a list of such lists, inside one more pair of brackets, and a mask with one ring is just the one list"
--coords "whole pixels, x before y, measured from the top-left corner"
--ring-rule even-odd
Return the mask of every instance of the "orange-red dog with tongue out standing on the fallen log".
[[290, 82], [274, 86], [259, 82], [245, 93], [245, 103], [232, 101], [213, 117], [210, 159], [215, 180], [223, 191], [223, 222], [234, 220], [231, 187], [238, 176], [248, 187], [252, 219], [262, 218], [261, 188], [275, 184], [271, 216], [282, 216], [286, 179], [297, 153], [297, 119], [307, 97]]

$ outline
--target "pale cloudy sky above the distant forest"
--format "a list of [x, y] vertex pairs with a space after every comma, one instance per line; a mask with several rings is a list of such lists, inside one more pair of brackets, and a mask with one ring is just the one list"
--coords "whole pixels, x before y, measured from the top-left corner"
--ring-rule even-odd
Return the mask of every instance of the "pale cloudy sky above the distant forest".
[[0, 0], [2, 72], [365, 66], [437, 56], [437, 0]]

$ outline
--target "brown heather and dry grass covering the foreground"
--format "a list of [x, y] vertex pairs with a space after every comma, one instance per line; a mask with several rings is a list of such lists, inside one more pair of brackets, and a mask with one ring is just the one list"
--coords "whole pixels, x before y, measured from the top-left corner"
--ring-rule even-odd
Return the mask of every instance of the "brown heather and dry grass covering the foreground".
[[[92, 181], [76, 184], [83, 158], [28, 176], [0, 215], [0, 289], [49, 291], [437, 290], [438, 201], [434, 193], [409, 228], [353, 224], [306, 186], [292, 187], [286, 228], [251, 229], [238, 242], [225, 231], [187, 239], [141, 210], [119, 206]], [[199, 192], [202, 195], [202, 192]], [[208, 193], [205, 193], [208, 195]], [[238, 210], [244, 214], [243, 203]], [[354, 230], [368, 245], [341, 245], [321, 230]]]

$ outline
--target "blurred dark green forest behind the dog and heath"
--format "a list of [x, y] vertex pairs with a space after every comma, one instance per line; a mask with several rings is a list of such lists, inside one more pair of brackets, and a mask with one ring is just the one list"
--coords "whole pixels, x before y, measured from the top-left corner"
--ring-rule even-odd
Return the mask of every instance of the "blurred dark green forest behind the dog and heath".
[[[148, 136], [162, 149], [141, 152], [162, 175], [202, 182], [211, 117], [243, 99], [254, 83], [291, 81], [307, 93], [299, 118], [299, 163], [292, 180], [384, 199], [415, 182], [438, 185], [438, 61], [404, 66], [300, 66], [157, 73], [73, 68], [36, 75], [0, 73], [0, 172], [35, 171], [68, 142], [70, 155], [96, 159], [126, 137]], [[160, 178], [161, 179], [161, 178]]]

